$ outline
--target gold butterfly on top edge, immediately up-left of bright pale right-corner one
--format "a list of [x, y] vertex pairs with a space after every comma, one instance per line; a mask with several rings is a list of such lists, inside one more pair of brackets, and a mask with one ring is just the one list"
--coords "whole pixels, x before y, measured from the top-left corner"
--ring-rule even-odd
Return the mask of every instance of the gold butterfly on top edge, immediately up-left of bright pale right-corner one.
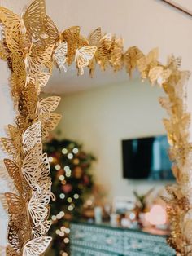
[[150, 72], [151, 68], [155, 68], [158, 63], [158, 57], [159, 57], [159, 49], [154, 48], [152, 49], [148, 55], [143, 56], [139, 60], [137, 60], [137, 68], [140, 71], [142, 75], [142, 79], [146, 79], [148, 73]]

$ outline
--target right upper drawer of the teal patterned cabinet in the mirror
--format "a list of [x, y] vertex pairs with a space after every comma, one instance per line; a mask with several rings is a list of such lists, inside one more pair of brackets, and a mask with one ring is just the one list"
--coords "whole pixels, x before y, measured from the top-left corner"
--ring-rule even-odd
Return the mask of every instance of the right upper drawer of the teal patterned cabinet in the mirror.
[[174, 250], [164, 236], [152, 236], [138, 232], [124, 232], [124, 255], [126, 256], [173, 256]]

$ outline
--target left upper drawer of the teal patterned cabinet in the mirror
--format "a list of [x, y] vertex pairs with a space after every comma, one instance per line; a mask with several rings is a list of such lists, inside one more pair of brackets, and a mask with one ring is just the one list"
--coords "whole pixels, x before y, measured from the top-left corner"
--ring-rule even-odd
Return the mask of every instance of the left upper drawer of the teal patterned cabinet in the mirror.
[[72, 223], [70, 238], [72, 246], [99, 249], [116, 255], [123, 254], [124, 241], [122, 232], [111, 228]]

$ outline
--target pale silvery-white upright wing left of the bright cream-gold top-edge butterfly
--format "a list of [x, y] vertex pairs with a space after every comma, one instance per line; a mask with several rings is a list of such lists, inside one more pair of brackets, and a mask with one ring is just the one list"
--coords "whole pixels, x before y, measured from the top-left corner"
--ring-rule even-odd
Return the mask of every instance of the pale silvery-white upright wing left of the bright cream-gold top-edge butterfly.
[[59, 68], [63, 68], [65, 72], [67, 71], [64, 65], [67, 60], [67, 57], [66, 57], [67, 53], [68, 53], [68, 42], [66, 41], [59, 44], [59, 46], [56, 48], [54, 53], [54, 59], [56, 63], [58, 64]]

